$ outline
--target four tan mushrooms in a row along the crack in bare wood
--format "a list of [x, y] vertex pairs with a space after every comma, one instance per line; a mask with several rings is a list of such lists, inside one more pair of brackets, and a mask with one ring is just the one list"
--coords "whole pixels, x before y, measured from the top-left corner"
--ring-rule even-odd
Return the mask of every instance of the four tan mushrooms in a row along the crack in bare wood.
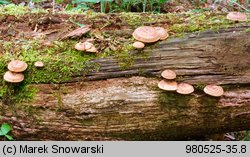
[[[194, 87], [188, 83], [177, 83], [174, 81], [176, 73], [172, 70], [164, 70], [161, 76], [165, 78], [158, 83], [158, 87], [166, 91], [176, 91], [179, 94], [191, 94], [194, 92]], [[222, 87], [217, 85], [207, 85], [204, 92], [208, 95], [219, 97], [224, 94]]]

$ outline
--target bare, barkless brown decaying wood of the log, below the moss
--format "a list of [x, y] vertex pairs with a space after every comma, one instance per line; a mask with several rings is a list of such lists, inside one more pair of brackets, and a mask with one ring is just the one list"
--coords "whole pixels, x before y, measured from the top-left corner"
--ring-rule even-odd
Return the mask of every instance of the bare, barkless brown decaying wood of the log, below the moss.
[[[18, 140], [178, 140], [250, 129], [250, 40], [248, 27], [207, 31], [146, 48], [147, 59], [121, 70], [115, 58], [95, 60], [98, 72], [68, 83], [33, 85], [32, 102], [2, 105], [1, 122]], [[131, 52], [136, 55], [137, 52]], [[163, 69], [179, 82], [225, 87], [214, 98], [157, 88]], [[126, 77], [125, 77], [126, 76]]]

